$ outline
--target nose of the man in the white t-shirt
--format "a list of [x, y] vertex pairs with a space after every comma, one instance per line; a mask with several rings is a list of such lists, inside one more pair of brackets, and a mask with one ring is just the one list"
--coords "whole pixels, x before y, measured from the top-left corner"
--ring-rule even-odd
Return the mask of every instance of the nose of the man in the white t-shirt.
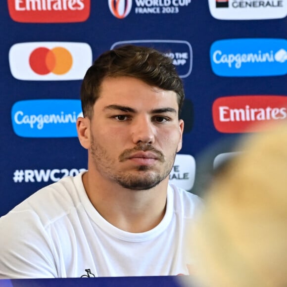
[[148, 117], [139, 117], [134, 119], [132, 125], [132, 139], [134, 144], [140, 142], [145, 144], [153, 144], [156, 127]]

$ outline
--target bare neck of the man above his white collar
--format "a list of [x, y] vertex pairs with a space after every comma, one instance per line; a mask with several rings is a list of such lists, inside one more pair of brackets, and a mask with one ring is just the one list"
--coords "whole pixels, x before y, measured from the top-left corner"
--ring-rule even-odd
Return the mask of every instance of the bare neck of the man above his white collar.
[[168, 178], [150, 190], [129, 190], [86, 172], [83, 184], [97, 212], [115, 227], [142, 233], [156, 227], [165, 214]]

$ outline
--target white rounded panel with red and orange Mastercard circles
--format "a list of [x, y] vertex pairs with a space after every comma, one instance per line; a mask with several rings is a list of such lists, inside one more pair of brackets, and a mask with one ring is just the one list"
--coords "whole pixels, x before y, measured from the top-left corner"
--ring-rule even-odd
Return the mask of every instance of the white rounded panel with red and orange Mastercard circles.
[[86, 43], [27, 42], [9, 50], [11, 74], [18, 80], [82, 80], [92, 64], [92, 49]]

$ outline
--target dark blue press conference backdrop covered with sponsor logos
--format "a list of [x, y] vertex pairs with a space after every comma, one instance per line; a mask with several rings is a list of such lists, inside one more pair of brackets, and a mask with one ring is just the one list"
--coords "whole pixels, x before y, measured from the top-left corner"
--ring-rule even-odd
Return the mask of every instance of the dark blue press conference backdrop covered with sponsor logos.
[[286, 16], [287, 0], [2, 0], [0, 216], [87, 168], [75, 129], [81, 80], [125, 43], [165, 52], [184, 81], [171, 180], [198, 193], [205, 150], [212, 167], [231, 152], [224, 143], [257, 132], [252, 123], [287, 117]]

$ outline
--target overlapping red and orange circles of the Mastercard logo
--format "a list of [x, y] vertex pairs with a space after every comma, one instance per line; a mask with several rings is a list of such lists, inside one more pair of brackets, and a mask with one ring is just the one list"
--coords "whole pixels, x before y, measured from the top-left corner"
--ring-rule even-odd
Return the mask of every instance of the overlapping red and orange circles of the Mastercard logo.
[[36, 48], [29, 57], [31, 69], [39, 75], [53, 73], [63, 75], [73, 65], [73, 57], [69, 50], [63, 47], [48, 49], [45, 47]]

